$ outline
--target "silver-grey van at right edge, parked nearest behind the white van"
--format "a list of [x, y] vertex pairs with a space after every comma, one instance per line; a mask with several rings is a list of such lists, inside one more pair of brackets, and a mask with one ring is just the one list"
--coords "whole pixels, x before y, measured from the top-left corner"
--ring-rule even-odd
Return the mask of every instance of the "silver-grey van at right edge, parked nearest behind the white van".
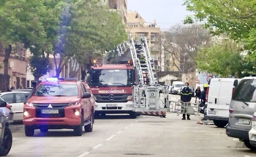
[[254, 112], [256, 112], [256, 77], [244, 77], [235, 88], [230, 102], [226, 134], [240, 139], [251, 150], [256, 150], [256, 146], [250, 144], [249, 139]]

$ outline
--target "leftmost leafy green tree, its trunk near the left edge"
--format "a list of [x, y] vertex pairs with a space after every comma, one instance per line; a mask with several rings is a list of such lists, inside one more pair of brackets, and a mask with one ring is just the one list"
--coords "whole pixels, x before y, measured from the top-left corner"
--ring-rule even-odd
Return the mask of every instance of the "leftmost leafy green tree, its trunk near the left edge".
[[41, 0], [2, 0], [0, 2], [0, 42], [4, 49], [3, 91], [9, 90], [8, 64], [12, 44], [23, 43], [25, 47], [34, 43], [44, 43], [46, 33], [43, 29], [41, 11], [44, 6]]

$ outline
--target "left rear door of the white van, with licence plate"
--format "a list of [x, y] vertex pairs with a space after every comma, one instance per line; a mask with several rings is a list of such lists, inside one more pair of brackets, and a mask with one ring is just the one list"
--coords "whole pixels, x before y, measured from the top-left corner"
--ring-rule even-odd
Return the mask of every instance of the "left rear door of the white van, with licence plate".
[[217, 98], [219, 97], [220, 86], [220, 79], [211, 79], [207, 105], [207, 115], [209, 116], [217, 116]]

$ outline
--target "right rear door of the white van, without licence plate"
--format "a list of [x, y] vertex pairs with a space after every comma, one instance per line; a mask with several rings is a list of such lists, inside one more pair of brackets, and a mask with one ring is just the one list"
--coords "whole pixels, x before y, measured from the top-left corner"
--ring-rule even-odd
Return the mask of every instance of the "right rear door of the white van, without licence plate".
[[219, 97], [217, 98], [217, 116], [229, 117], [229, 105], [234, 88], [235, 79], [222, 79], [219, 89]]

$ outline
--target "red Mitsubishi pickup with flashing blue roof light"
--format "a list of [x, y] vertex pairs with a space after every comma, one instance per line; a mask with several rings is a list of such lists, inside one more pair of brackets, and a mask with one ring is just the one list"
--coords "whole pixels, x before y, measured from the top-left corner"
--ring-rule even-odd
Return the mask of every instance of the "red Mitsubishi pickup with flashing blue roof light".
[[[34, 85], [35, 86], [35, 85]], [[76, 136], [91, 132], [94, 124], [95, 97], [83, 81], [48, 78], [27, 93], [23, 107], [25, 135], [33, 136], [35, 129], [73, 129]]]

